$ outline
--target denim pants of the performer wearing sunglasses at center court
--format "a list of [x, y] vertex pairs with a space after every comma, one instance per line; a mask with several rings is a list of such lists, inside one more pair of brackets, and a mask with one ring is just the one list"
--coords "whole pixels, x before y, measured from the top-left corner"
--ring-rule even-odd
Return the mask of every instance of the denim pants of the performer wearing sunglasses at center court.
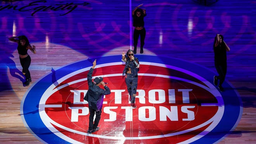
[[128, 93], [131, 97], [131, 103], [135, 103], [135, 96], [137, 93], [138, 86], [138, 75], [135, 77], [128, 75], [127, 77], [125, 77], [125, 83], [127, 86]]

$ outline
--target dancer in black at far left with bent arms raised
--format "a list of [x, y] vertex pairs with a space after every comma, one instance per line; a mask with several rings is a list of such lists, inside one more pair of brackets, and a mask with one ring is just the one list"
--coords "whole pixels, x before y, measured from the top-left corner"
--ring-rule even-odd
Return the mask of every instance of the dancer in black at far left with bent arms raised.
[[25, 86], [28, 86], [29, 83], [31, 82], [31, 76], [30, 72], [28, 70], [30, 63], [31, 63], [31, 58], [28, 55], [28, 49], [32, 51], [32, 53], [36, 53], [36, 47], [31, 46], [29, 44], [28, 38], [26, 36], [17, 36], [17, 37], [9, 37], [10, 41], [17, 42], [18, 43], [18, 53], [19, 53], [19, 60], [21, 62], [22, 66], [22, 73], [26, 78], [26, 81], [24, 82]]

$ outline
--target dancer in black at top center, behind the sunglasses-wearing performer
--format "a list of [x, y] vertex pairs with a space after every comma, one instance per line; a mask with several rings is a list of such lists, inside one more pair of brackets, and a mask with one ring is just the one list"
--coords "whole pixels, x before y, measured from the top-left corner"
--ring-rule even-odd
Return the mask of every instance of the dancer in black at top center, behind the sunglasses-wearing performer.
[[137, 53], [137, 44], [138, 44], [138, 38], [140, 36], [140, 53], [143, 53], [143, 46], [145, 44], [144, 40], [146, 37], [146, 30], [144, 27], [144, 17], [147, 15], [145, 9], [141, 9], [143, 4], [138, 5], [135, 7], [132, 11], [132, 17], [133, 17], [133, 27], [134, 27], [134, 32], [133, 32], [133, 46], [134, 50], [133, 53]]

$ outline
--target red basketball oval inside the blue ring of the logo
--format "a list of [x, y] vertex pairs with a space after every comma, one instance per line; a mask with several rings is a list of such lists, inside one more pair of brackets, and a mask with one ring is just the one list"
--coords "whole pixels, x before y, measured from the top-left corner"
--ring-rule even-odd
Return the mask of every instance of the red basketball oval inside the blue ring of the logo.
[[54, 89], [46, 91], [50, 95], [44, 98], [46, 114], [42, 117], [48, 116], [55, 129], [81, 142], [89, 136], [104, 141], [149, 139], [149, 142], [177, 143], [209, 129], [219, 107], [214, 105], [218, 103], [216, 97], [200, 81], [196, 81], [199, 85], [186, 81], [182, 72], [183, 79], [179, 79], [178, 71], [164, 66], [140, 64], [140, 67], [150, 71], [139, 71], [135, 109], [130, 107], [125, 78], [121, 75], [124, 66], [95, 68], [93, 76], [102, 76], [111, 94], [104, 98], [100, 130], [94, 135], [86, 134], [89, 112], [88, 103], [83, 100], [90, 68], [59, 79]]

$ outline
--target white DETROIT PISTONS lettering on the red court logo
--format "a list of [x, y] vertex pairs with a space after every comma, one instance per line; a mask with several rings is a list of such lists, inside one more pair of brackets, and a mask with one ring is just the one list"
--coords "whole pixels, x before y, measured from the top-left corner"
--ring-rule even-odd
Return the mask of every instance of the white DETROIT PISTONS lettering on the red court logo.
[[[111, 90], [111, 93], [114, 93], [114, 103], [115, 104], [121, 104], [122, 101], [122, 92], [125, 90]], [[138, 103], [145, 103], [145, 91], [144, 90], [137, 90], [139, 95], [136, 96]], [[192, 89], [178, 89], [178, 91], [182, 92], [182, 100], [183, 103], [189, 103], [189, 91], [192, 91]], [[85, 95], [87, 90], [71, 90], [71, 92], [74, 93], [74, 104], [88, 104], [88, 102], [83, 101], [81, 102], [81, 93]], [[158, 93], [158, 100], [156, 100], [156, 93]], [[166, 95], [164, 90], [150, 90], [149, 91], [149, 103], [165, 103], [166, 102]], [[169, 103], [175, 103], [175, 90], [169, 89], [168, 90], [168, 99]], [[128, 100], [129, 101], [129, 100]], [[107, 104], [107, 102], [104, 102], [104, 104]], [[71, 111], [71, 122], [78, 122], [78, 117], [81, 115], [88, 115], [89, 109], [88, 107], [69, 107]], [[105, 114], [109, 114], [109, 119], [104, 119], [104, 121], [115, 121], [117, 117], [117, 113], [114, 112], [115, 109], [118, 107], [104, 107], [102, 112]], [[194, 111], [189, 110], [191, 108], [195, 108], [195, 106], [188, 105], [188, 106], [182, 106], [181, 111], [184, 114], [187, 114], [187, 118], [182, 119], [183, 121], [191, 121], [194, 120], [195, 114]], [[126, 121], [132, 121], [132, 113], [131, 107], [121, 107], [121, 109], [125, 110], [125, 120]], [[80, 112], [78, 112], [80, 110]], [[82, 111], [82, 112], [81, 112]], [[148, 112], [148, 116], [146, 117], [146, 113]], [[156, 108], [153, 106], [143, 106], [138, 108], [138, 119], [140, 121], [153, 121], [156, 120]], [[171, 121], [178, 121], [178, 106], [170, 106], [169, 108], [160, 106], [159, 107], [159, 119], [160, 121], [167, 121], [168, 119]]]

